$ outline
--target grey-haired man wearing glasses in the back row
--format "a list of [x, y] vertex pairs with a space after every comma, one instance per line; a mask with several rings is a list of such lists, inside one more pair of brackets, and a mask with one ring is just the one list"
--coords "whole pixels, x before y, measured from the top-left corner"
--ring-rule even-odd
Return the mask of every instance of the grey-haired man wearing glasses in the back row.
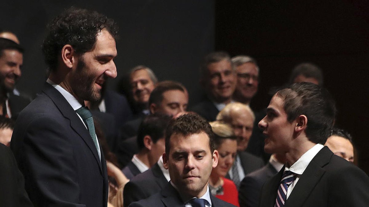
[[233, 99], [249, 105], [258, 91], [259, 67], [254, 58], [244, 55], [233, 57], [232, 63], [237, 71], [237, 85]]

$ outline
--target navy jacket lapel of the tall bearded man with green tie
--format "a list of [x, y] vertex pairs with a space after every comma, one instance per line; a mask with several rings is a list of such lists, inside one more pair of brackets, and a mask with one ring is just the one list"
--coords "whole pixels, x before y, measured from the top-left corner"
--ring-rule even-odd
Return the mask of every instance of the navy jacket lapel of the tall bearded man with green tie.
[[[99, 158], [99, 154], [97, 154], [95, 144], [92, 141], [92, 138], [89, 134], [89, 131], [86, 129], [85, 125], [83, 125], [82, 121], [79, 119], [77, 113], [73, 110], [72, 106], [69, 105], [68, 101], [63, 97], [63, 95], [56, 90], [52, 85], [45, 83], [42, 91], [51, 98], [51, 100], [55, 103], [56, 107], [62, 113], [62, 115], [70, 120], [70, 127], [76, 131], [77, 134], [85, 141], [86, 145], [90, 148], [92, 154], [94, 155], [97, 164], [100, 167], [100, 173], [103, 175], [103, 171], [101, 169], [101, 162]], [[103, 151], [101, 150], [101, 154]]]

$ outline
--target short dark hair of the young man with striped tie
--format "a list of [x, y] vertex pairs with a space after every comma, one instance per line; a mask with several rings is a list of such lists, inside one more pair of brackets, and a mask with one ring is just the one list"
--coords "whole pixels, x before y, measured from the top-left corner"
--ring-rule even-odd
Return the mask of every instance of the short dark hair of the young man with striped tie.
[[295, 83], [280, 89], [275, 95], [283, 99], [289, 122], [305, 115], [307, 138], [313, 143], [325, 144], [336, 114], [335, 102], [325, 88], [313, 83]]

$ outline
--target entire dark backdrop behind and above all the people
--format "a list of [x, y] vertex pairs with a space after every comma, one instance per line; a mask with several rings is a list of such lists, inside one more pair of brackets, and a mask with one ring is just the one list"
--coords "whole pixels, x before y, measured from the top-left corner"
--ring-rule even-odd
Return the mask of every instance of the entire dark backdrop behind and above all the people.
[[288, 80], [294, 66], [312, 62], [324, 70], [324, 85], [337, 101], [337, 125], [354, 137], [358, 164], [369, 173], [368, 0], [113, 0], [1, 2], [0, 28], [18, 35], [26, 49], [17, 87], [38, 92], [46, 79], [41, 44], [47, 22], [64, 8], [97, 10], [120, 26], [115, 60], [118, 80], [145, 64], [159, 80], [182, 82], [190, 104], [200, 100], [198, 67], [208, 52], [255, 57], [259, 92], [252, 108], [265, 108], [269, 88]]

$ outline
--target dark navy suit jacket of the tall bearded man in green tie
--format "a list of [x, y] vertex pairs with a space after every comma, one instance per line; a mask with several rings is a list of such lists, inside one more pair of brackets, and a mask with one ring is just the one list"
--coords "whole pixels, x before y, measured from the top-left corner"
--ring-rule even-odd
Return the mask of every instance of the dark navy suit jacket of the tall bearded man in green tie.
[[11, 149], [35, 206], [107, 206], [106, 162], [83, 122], [50, 84], [18, 116]]

